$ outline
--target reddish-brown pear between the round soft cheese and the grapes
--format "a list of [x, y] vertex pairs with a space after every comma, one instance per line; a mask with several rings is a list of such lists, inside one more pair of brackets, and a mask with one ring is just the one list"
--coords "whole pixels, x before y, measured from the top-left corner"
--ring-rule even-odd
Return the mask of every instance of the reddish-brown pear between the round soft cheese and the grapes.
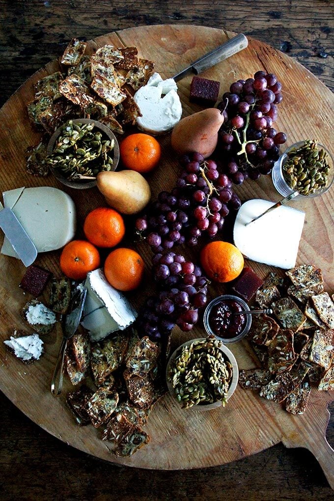
[[182, 118], [172, 131], [172, 148], [181, 155], [196, 151], [207, 158], [217, 146], [223, 122], [224, 116], [217, 108], [207, 108]]

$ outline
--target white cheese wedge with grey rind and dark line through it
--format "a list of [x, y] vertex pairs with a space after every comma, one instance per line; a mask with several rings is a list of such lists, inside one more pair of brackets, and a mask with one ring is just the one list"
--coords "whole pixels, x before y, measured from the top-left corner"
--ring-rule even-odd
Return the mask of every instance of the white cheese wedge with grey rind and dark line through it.
[[137, 312], [126, 297], [107, 282], [102, 269], [88, 273], [85, 287], [87, 296], [81, 324], [88, 330], [91, 341], [123, 331], [136, 320]]

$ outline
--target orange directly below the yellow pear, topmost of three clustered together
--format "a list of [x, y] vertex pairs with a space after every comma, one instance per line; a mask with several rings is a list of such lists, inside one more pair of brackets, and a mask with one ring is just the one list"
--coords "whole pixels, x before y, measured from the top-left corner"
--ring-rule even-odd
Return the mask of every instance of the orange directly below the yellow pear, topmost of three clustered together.
[[87, 240], [97, 247], [114, 247], [125, 233], [123, 217], [114, 209], [99, 207], [87, 215], [84, 232]]

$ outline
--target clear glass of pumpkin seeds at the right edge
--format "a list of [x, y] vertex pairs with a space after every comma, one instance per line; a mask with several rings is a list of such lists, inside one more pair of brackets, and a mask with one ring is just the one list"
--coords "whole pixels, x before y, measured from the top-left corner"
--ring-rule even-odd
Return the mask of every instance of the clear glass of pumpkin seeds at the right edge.
[[292, 144], [272, 169], [272, 182], [283, 196], [315, 197], [329, 190], [334, 179], [334, 161], [325, 146], [315, 139]]

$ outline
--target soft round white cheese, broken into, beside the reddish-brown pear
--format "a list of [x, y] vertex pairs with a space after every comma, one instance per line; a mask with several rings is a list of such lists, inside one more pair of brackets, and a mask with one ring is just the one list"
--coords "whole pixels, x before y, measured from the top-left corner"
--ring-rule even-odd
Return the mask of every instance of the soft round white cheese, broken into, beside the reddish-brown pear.
[[135, 93], [134, 100], [142, 113], [136, 119], [137, 126], [145, 132], [164, 134], [181, 119], [182, 105], [177, 85], [171, 78], [162, 80], [159, 73], [154, 73], [147, 84]]

